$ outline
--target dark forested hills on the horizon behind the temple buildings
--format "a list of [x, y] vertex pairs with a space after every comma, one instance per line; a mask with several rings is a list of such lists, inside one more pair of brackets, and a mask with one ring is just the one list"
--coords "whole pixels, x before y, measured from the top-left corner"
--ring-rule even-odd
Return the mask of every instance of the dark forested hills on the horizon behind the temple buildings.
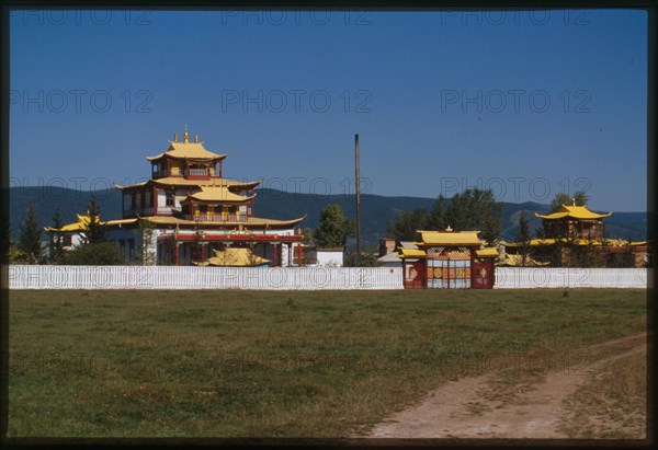
[[[315, 229], [319, 221], [320, 210], [330, 204], [339, 204], [348, 217], [355, 217], [353, 195], [316, 195], [295, 194], [275, 189], [257, 189], [254, 201], [256, 215], [272, 219], [293, 219], [305, 214], [308, 217], [300, 227]], [[103, 219], [122, 217], [121, 192], [103, 189], [95, 192]], [[65, 223], [76, 220], [76, 214], [87, 210], [90, 192], [75, 191], [61, 187], [12, 187], [10, 189], [10, 226], [18, 235], [23, 217], [30, 201], [34, 201], [36, 212], [44, 227], [53, 223], [53, 215], [59, 208]], [[404, 210], [416, 208], [431, 209], [434, 198], [423, 197], [384, 197], [364, 194], [361, 196], [361, 234], [364, 245], [376, 245], [381, 238], [386, 236], [386, 226], [395, 220]], [[513, 241], [519, 232], [519, 216], [526, 211], [530, 229], [541, 227], [542, 220], [534, 212], [546, 214], [548, 205], [533, 201], [523, 204], [504, 203], [501, 230], [503, 240]], [[606, 233], [610, 238], [645, 240], [647, 236], [646, 212], [614, 212], [605, 220]]]

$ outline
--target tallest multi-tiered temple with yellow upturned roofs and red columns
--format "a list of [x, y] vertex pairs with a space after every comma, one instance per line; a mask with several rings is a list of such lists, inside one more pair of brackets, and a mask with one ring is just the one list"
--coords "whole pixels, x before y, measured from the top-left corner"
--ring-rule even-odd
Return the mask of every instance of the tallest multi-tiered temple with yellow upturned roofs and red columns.
[[167, 150], [146, 157], [151, 165], [148, 181], [115, 185], [123, 193], [123, 219], [107, 221], [107, 227], [126, 258], [135, 257], [146, 223], [151, 230], [146, 245], [155, 252], [157, 264], [206, 265], [206, 259], [214, 258], [208, 264], [219, 265], [222, 257], [216, 252], [245, 247], [254, 257], [241, 258], [238, 265], [245, 261], [253, 262], [247, 265], [293, 265], [303, 241], [295, 226], [306, 216], [290, 220], [258, 217], [253, 199], [260, 181], [224, 177], [227, 154], [212, 152], [204, 143], [198, 135], [191, 141], [185, 127], [182, 140], [174, 134]]

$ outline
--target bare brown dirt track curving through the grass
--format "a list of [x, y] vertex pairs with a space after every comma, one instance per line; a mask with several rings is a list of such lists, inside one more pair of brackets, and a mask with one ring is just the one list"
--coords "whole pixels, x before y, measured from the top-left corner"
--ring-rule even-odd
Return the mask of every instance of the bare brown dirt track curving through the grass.
[[370, 438], [567, 438], [563, 400], [604, 364], [646, 348], [646, 334], [580, 350], [570, 366], [510, 376], [498, 370], [449, 381], [419, 404], [376, 425]]

